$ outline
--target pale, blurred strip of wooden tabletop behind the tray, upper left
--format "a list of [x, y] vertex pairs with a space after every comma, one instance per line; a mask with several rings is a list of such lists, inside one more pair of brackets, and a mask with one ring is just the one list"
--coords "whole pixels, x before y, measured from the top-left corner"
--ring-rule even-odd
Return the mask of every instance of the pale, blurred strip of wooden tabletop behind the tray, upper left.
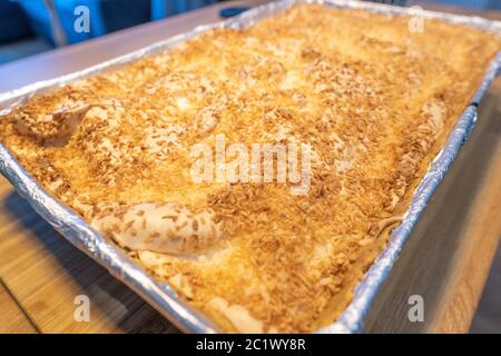
[[268, 1], [227, 1], [9, 62], [0, 66], [0, 93], [88, 68], [177, 33], [189, 31], [198, 24], [220, 21], [218, 13], [223, 8], [253, 7]]

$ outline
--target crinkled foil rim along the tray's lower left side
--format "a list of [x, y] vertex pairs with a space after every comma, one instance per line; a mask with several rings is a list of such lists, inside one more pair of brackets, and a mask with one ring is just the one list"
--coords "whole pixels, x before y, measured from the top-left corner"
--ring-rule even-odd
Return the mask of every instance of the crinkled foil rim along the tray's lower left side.
[[161, 314], [167, 312], [170, 317], [176, 316], [170, 320], [181, 330], [218, 332], [198, 312], [178, 298], [170, 286], [155, 280], [139, 265], [129, 260], [124, 250], [107, 241], [79, 215], [42, 189], [3, 145], [0, 145], [0, 171], [16, 187], [17, 192], [58, 233], [104, 266], [115, 278], [150, 301], [155, 308], [160, 308], [158, 312]]

